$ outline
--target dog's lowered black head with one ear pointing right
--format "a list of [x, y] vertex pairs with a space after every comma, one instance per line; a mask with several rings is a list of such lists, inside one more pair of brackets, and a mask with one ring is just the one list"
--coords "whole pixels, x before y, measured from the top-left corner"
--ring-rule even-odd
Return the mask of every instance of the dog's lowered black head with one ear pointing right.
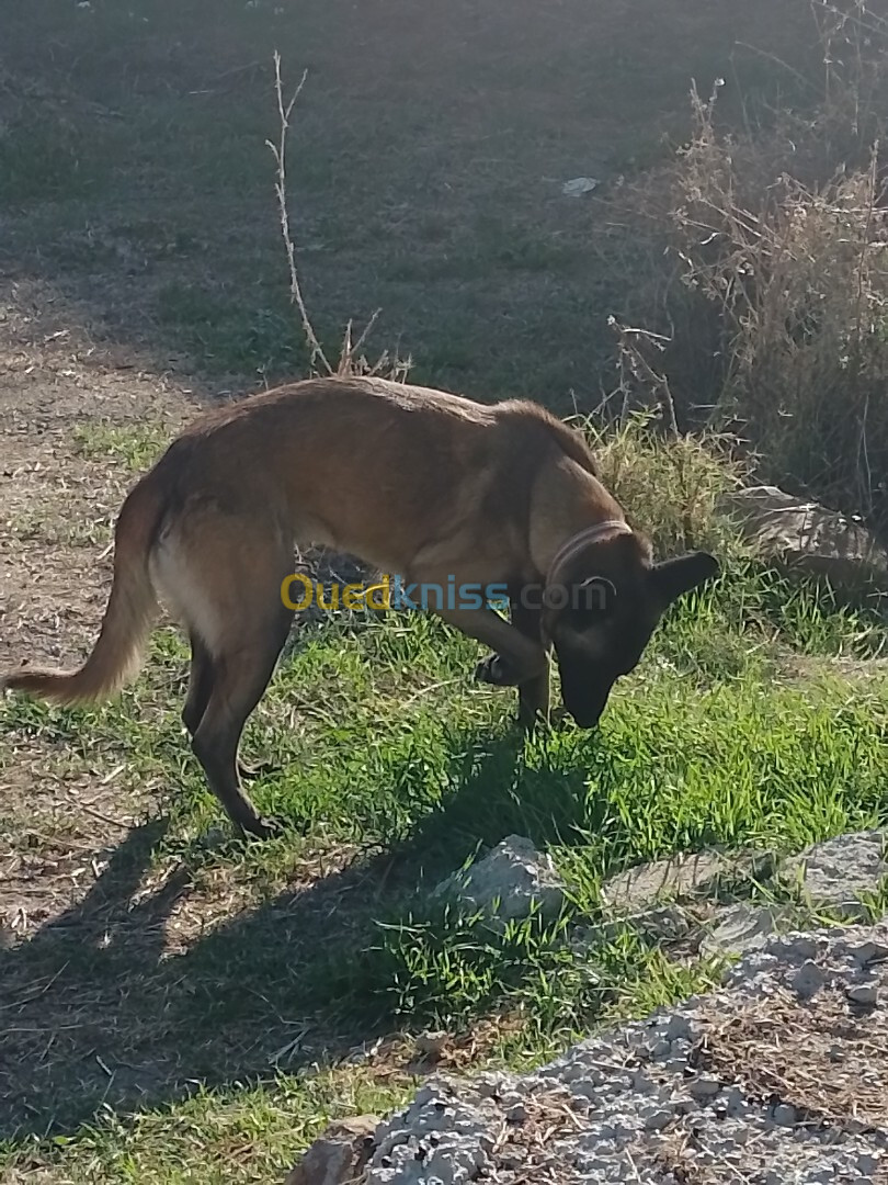
[[542, 633], [555, 651], [565, 707], [580, 728], [598, 723], [613, 684], [637, 666], [665, 609], [718, 572], [704, 551], [655, 563], [649, 544], [629, 531], [555, 565]]

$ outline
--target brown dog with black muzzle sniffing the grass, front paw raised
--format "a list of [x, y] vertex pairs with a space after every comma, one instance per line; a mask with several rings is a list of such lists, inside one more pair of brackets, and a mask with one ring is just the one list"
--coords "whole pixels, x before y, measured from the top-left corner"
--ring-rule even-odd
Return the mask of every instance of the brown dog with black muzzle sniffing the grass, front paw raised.
[[[294, 544], [444, 590], [437, 611], [493, 648], [477, 675], [517, 686], [526, 724], [548, 709], [554, 648], [565, 706], [594, 725], [663, 610], [719, 570], [704, 552], [652, 563], [585, 441], [536, 404], [309, 379], [212, 411], [170, 444], [121, 510], [85, 664], [5, 685], [63, 704], [109, 694], [137, 670], [163, 595], [191, 639], [182, 718], [194, 754], [234, 825], [266, 835], [237, 752], [291, 623]], [[453, 598], [457, 587], [484, 591]], [[508, 595], [511, 624], [491, 587]]]

